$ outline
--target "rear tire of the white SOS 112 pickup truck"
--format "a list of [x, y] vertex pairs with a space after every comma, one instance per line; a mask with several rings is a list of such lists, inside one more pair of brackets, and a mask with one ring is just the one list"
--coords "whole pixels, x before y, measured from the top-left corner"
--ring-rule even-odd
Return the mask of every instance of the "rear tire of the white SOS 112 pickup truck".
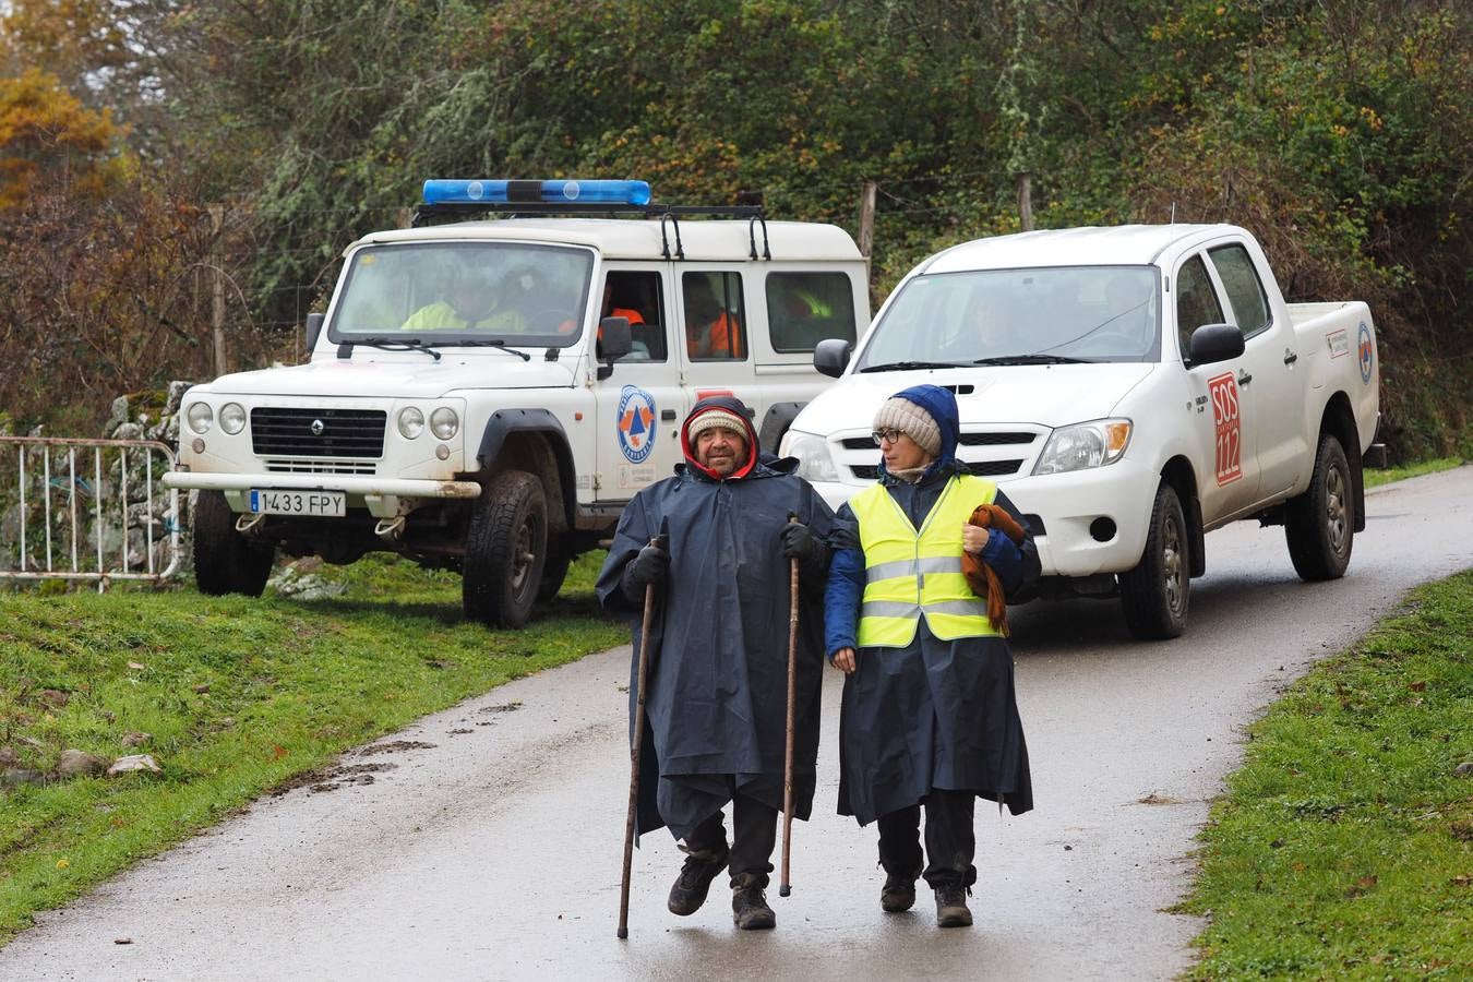
[[1355, 492], [1345, 448], [1329, 433], [1314, 453], [1309, 487], [1284, 504], [1284, 539], [1301, 580], [1337, 580], [1355, 545]]

